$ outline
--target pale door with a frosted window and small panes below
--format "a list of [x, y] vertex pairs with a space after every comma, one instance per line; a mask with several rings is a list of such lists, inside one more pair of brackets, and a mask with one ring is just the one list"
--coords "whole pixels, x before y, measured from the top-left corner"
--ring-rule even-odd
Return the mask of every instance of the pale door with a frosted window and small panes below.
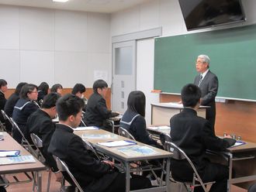
[[130, 91], [136, 90], [136, 41], [112, 45], [112, 111], [124, 113]]

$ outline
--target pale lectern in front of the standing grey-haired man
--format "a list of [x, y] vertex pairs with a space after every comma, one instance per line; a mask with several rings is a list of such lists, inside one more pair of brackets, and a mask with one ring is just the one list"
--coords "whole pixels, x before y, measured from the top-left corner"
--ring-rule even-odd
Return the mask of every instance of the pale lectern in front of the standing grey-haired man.
[[[151, 125], [170, 125], [170, 118], [182, 111], [183, 105], [178, 103], [152, 103], [151, 104]], [[206, 118], [207, 106], [200, 106], [197, 115]]]

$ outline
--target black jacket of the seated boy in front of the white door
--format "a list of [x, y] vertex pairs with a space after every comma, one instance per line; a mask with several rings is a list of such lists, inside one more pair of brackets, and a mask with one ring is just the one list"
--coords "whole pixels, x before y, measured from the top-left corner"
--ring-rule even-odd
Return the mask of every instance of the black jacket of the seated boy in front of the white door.
[[88, 99], [85, 111], [85, 124], [88, 126], [102, 127], [107, 118], [115, 117], [118, 114], [110, 111], [106, 106], [105, 98], [102, 95], [94, 93]]

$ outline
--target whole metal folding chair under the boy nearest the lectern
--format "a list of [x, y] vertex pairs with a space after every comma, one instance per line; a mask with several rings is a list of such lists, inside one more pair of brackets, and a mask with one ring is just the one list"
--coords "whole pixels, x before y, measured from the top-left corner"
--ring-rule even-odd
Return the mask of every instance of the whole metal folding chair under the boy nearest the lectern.
[[164, 149], [167, 149], [168, 152], [173, 153], [173, 156], [171, 156], [171, 159], [186, 160], [189, 163], [189, 165], [191, 166], [191, 168], [193, 170], [193, 177], [192, 177], [191, 182], [182, 181], [182, 180], [174, 180], [174, 178], [171, 177], [171, 180], [174, 180], [177, 183], [182, 183], [185, 186], [187, 191], [193, 192], [195, 187], [201, 186], [202, 189], [205, 192], [207, 192], [206, 185], [215, 183], [215, 181], [203, 183], [201, 177], [199, 176], [199, 173], [195, 169], [194, 164], [189, 159], [189, 156], [187, 156], [182, 149], [180, 149], [178, 146], [176, 146], [175, 143], [168, 142], [168, 141], [164, 142]]

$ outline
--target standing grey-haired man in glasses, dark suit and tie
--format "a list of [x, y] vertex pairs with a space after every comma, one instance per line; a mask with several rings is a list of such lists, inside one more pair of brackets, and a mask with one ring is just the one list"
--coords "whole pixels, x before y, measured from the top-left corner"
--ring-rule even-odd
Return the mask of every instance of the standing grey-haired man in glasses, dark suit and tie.
[[209, 106], [206, 108], [206, 119], [209, 120], [213, 127], [215, 125], [216, 104], [215, 97], [218, 92], [218, 78], [209, 70], [209, 57], [206, 55], [199, 55], [197, 57], [195, 68], [200, 73], [195, 77], [194, 84], [200, 87], [202, 92], [201, 105]]

